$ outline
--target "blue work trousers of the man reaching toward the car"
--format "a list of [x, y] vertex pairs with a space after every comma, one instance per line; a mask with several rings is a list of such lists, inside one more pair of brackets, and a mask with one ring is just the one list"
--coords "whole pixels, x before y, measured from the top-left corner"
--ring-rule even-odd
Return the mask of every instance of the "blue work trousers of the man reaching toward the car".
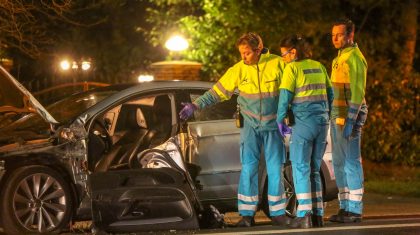
[[238, 188], [238, 210], [241, 216], [254, 216], [258, 208], [258, 166], [264, 149], [268, 174], [268, 204], [271, 216], [285, 214], [282, 169], [285, 147], [278, 130], [259, 130], [245, 121], [241, 129], [240, 155], [242, 170]]

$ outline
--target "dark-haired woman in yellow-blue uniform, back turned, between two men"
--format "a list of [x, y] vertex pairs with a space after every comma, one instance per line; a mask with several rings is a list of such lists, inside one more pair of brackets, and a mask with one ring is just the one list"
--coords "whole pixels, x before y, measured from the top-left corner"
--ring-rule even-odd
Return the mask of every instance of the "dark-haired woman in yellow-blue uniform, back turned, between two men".
[[333, 101], [331, 81], [325, 67], [312, 56], [308, 43], [299, 35], [280, 42], [286, 67], [280, 85], [277, 122], [284, 126], [289, 106], [294, 115], [290, 161], [298, 200], [293, 228], [323, 226], [320, 169], [325, 152], [329, 110]]

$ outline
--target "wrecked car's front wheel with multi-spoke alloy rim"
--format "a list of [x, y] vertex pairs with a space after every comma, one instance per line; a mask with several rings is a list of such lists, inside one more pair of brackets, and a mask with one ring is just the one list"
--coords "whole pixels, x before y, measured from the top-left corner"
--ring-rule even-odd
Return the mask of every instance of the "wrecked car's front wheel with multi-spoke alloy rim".
[[1, 197], [6, 234], [58, 233], [70, 222], [71, 190], [57, 171], [46, 166], [15, 170]]

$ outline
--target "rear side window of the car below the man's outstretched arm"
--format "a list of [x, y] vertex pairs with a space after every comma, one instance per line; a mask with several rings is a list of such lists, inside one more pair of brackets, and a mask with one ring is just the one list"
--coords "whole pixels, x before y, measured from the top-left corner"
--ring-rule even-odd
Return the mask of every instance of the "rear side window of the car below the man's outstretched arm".
[[[199, 96], [200, 94], [191, 94], [191, 100], [194, 101]], [[237, 98], [237, 95], [233, 95], [229, 100], [195, 111], [195, 121], [233, 119], [236, 111]]]

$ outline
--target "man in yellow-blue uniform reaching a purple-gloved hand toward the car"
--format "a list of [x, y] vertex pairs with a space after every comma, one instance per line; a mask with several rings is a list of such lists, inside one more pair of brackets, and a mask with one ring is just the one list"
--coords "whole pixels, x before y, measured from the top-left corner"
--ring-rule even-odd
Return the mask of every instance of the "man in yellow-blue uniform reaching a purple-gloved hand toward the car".
[[237, 43], [242, 61], [220, 78], [209, 91], [193, 103], [185, 104], [180, 112], [187, 119], [195, 110], [231, 98], [239, 90], [238, 104], [243, 115], [240, 137], [242, 170], [238, 188], [238, 210], [242, 219], [239, 227], [253, 226], [258, 207], [258, 164], [262, 147], [268, 174], [268, 203], [273, 225], [286, 225], [286, 196], [282, 168], [285, 146], [276, 124], [280, 79], [284, 63], [270, 54], [256, 33], [242, 35]]

